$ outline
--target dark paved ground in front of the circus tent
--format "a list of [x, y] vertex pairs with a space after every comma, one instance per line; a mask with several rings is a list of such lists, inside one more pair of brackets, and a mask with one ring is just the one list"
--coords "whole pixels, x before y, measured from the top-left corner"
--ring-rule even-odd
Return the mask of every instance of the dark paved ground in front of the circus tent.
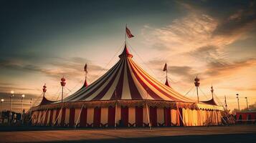
[[0, 142], [256, 142], [256, 125], [0, 132]]

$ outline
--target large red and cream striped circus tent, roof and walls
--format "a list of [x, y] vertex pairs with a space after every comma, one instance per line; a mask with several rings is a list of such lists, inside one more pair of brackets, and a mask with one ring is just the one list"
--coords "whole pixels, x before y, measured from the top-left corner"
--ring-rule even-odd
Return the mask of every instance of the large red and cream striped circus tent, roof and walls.
[[67, 127], [202, 126], [220, 124], [222, 107], [193, 99], [151, 77], [125, 45], [102, 77], [63, 102], [32, 108], [32, 124]]

